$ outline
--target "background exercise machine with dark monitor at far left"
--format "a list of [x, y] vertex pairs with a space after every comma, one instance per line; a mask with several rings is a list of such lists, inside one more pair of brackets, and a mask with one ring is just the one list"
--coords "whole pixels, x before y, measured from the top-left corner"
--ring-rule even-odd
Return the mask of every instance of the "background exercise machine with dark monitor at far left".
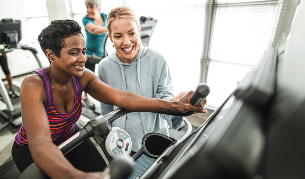
[[[13, 19], [2, 19], [0, 21], [0, 44], [3, 44], [5, 46], [2, 51], [8, 53], [13, 51], [14, 49], [29, 50], [36, 58], [39, 67], [43, 68], [43, 65], [38, 57], [38, 51], [30, 46], [19, 45], [18, 42], [20, 40], [21, 21]], [[20, 88], [20, 86], [17, 87]], [[7, 106], [6, 109], [0, 111], [0, 115], [2, 115], [7, 120], [7, 122], [0, 126], [0, 131], [7, 127], [9, 124], [13, 124], [14, 126], [20, 126], [22, 124], [20, 98], [16, 97], [18, 99], [14, 100], [18, 101], [15, 104], [12, 104], [12, 100], [10, 99], [2, 80], [0, 80], [0, 95], [2, 97], [3, 102]]]

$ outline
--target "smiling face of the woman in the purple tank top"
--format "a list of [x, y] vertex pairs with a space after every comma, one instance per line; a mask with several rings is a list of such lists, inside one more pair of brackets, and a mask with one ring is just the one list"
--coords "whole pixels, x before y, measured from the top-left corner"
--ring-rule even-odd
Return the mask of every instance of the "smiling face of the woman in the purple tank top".
[[67, 76], [81, 77], [87, 61], [85, 39], [81, 35], [73, 35], [65, 39], [66, 46], [60, 51], [60, 57], [54, 57], [56, 68]]

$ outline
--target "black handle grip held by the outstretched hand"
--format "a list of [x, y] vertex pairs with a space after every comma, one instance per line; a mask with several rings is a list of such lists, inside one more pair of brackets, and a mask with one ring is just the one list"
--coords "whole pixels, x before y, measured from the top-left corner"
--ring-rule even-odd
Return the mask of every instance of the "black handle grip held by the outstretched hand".
[[[194, 92], [193, 96], [190, 99], [190, 103], [194, 106], [200, 106], [203, 101], [206, 99], [207, 95], [210, 93], [210, 87], [205, 83], [200, 83], [197, 86], [196, 91]], [[178, 111], [158, 111], [155, 113], [160, 114], [167, 114], [167, 115], [175, 115], [175, 116], [189, 116], [194, 114], [194, 111], [188, 111], [185, 113], [178, 112]]]

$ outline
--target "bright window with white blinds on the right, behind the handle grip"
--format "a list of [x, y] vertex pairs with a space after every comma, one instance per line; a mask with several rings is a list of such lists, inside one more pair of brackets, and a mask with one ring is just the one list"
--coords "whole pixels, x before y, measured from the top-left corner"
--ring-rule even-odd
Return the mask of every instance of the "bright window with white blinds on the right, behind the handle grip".
[[285, 40], [298, 0], [206, 2], [199, 82], [211, 87], [208, 104], [219, 106], [268, 46]]

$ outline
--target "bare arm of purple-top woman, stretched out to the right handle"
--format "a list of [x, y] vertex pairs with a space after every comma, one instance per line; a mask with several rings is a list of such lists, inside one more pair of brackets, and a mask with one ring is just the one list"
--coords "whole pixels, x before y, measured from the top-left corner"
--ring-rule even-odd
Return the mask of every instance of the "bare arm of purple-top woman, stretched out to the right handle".
[[102, 82], [93, 72], [87, 69], [84, 69], [84, 75], [80, 80], [83, 88], [86, 89], [96, 100], [105, 104], [116, 105], [129, 111], [152, 112], [170, 110], [179, 112], [206, 112], [203, 107], [196, 107], [189, 103], [194, 91], [188, 92], [179, 100], [167, 101], [163, 99], [144, 97], [132, 92], [117, 90]]

